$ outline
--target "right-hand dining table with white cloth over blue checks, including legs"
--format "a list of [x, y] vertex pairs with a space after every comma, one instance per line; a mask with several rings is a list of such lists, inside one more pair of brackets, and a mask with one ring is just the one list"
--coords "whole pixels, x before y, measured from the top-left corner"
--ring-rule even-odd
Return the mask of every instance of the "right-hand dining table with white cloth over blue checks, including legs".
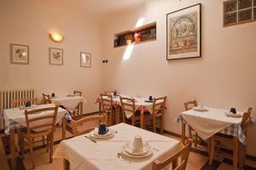
[[[241, 116], [237, 116], [237, 115]], [[192, 127], [201, 139], [207, 140], [215, 133], [230, 135], [234, 139], [233, 167], [236, 169], [238, 162], [239, 143], [246, 144], [246, 137], [241, 129], [242, 111], [237, 111], [236, 116], [230, 111], [212, 107], [204, 107], [204, 111], [183, 111], [177, 116], [176, 121], [182, 123], [182, 142], [185, 142], [186, 124]]]

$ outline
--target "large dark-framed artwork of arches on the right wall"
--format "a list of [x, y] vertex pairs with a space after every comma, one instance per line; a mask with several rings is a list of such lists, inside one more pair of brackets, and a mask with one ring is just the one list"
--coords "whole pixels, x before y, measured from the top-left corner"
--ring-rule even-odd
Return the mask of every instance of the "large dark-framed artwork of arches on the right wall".
[[201, 3], [166, 14], [166, 59], [201, 57]]

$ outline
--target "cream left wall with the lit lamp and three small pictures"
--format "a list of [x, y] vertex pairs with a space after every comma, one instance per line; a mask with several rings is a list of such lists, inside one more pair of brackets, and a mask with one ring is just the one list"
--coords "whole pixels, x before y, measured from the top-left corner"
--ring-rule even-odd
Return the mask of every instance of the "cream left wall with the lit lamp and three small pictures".
[[[97, 111], [94, 104], [101, 91], [101, 26], [95, 15], [86, 14], [72, 1], [0, 1], [0, 88], [34, 88], [62, 96], [81, 90], [86, 112]], [[49, 39], [49, 32], [65, 36], [60, 43]], [[10, 64], [10, 43], [30, 47], [30, 65]], [[48, 48], [64, 48], [64, 65], [49, 65]], [[90, 69], [80, 68], [80, 51], [92, 54]]]

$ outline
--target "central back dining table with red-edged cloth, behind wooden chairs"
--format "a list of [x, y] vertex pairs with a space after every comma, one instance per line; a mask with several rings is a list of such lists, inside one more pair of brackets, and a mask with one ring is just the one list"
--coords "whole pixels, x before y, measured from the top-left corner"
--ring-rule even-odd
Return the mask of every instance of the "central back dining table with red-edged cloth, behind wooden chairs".
[[[143, 97], [134, 97], [134, 96], [131, 96], [131, 95], [125, 95], [125, 94], [119, 94], [119, 95], [112, 95], [113, 96], [113, 106], [114, 107], [121, 107], [121, 102], [120, 102], [120, 98], [119, 96], [123, 97], [123, 98], [131, 98], [131, 99], [135, 99], [135, 107], [138, 111], [140, 111], [140, 127], [143, 128], [144, 127], [144, 113], [147, 112], [149, 114], [152, 114], [153, 113], [153, 103], [154, 101], [149, 101], [148, 98], [143, 98]], [[104, 98], [107, 98], [104, 96]], [[160, 102], [160, 101], [158, 101]], [[99, 110], [101, 112], [101, 99], [96, 99], [96, 103], [99, 104]], [[117, 109], [116, 110], [117, 113], [117, 120], [119, 123], [119, 120], [120, 120], [120, 114], [119, 114], [119, 111], [120, 109]], [[125, 116], [127, 118], [131, 117], [132, 116], [132, 113], [131, 112], [125, 112]]]

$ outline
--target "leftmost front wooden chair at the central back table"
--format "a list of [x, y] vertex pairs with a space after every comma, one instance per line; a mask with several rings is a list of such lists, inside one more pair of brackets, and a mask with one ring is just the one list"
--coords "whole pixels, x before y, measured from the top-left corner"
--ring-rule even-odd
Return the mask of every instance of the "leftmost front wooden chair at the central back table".
[[107, 115], [107, 124], [111, 126], [113, 123], [113, 96], [108, 94], [100, 94], [102, 102], [102, 114]]

